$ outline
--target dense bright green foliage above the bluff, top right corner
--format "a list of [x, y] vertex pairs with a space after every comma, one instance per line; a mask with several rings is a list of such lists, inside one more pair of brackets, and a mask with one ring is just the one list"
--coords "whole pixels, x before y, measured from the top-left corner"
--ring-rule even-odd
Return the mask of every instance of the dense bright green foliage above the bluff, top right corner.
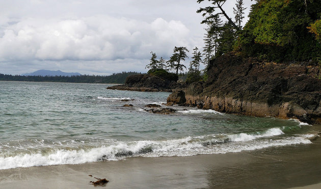
[[235, 50], [246, 57], [271, 61], [318, 57], [321, 44], [307, 27], [318, 24], [320, 12], [321, 0], [257, 0], [248, 23], [239, 33]]

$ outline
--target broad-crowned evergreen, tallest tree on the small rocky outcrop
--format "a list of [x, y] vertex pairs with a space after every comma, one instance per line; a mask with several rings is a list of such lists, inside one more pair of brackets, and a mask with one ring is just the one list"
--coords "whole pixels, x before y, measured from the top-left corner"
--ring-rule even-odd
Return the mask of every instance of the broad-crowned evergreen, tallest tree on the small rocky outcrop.
[[184, 61], [185, 58], [189, 58], [186, 55], [186, 52], [189, 52], [189, 50], [186, 47], [174, 47], [174, 53], [171, 56], [170, 60], [167, 61], [168, 67], [170, 67], [173, 70], [176, 70], [176, 75], [178, 75], [178, 70], [183, 71], [183, 68], [186, 68], [183, 64], [181, 64], [181, 61]]

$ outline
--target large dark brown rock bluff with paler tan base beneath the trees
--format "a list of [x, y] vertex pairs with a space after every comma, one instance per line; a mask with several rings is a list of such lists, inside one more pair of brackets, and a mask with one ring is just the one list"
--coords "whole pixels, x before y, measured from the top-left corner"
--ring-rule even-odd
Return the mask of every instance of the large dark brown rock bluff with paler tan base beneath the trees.
[[185, 105], [249, 116], [321, 124], [319, 67], [258, 62], [234, 55], [211, 62], [207, 82], [185, 89]]

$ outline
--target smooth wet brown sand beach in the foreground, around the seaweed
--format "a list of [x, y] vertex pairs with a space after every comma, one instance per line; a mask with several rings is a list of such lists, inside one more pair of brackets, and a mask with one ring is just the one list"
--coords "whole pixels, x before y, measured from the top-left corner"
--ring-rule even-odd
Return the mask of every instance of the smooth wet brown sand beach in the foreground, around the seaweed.
[[0, 170], [0, 188], [94, 188], [88, 175], [110, 180], [106, 188], [315, 188], [321, 186], [321, 140], [240, 153]]

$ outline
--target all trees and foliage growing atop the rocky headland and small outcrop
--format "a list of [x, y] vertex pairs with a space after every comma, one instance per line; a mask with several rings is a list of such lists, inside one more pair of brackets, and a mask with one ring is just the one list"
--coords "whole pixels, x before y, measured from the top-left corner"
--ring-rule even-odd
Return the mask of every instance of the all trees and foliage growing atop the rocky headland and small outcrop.
[[[235, 0], [234, 15], [224, 10], [227, 0], [198, 0], [205, 24], [204, 47], [193, 49], [186, 83], [207, 79], [210, 61], [227, 53], [242, 58], [255, 58], [269, 62], [309, 62], [321, 67], [321, 0], [255, 0], [251, 6], [249, 20], [244, 26], [243, 0]], [[225, 21], [224, 21], [225, 20]], [[176, 47], [169, 60], [157, 60], [155, 52], [148, 73], [164, 75], [178, 74], [186, 68], [182, 63], [188, 58], [186, 47]], [[200, 70], [200, 64], [205, 65]], [[226, 62], [228, 64], [228, 62]], [[320, 77], [320, 76], [319, 76]]]

